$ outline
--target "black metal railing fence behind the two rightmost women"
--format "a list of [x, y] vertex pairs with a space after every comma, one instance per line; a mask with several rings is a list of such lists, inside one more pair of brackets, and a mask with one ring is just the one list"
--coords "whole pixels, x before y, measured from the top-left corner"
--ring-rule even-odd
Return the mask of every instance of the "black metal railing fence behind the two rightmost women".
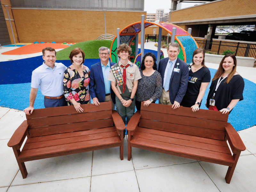
[[196, 39], [196, 43], [207, 53], [221, 55], [225, 51], [230, 51], [234, 52], [236, 56], [254, 57], [256, 59], [256, 44], [198, 39]]

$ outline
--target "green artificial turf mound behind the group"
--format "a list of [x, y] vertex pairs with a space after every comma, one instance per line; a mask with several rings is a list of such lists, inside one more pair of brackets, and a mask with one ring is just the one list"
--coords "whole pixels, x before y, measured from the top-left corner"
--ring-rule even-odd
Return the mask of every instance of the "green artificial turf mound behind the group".
[[69, 60], [68, 56], [70, 52], [76, 47], [79, 47], [84, 51], [85, 59], [99, 59], [99, 48], [104, 46], [110, 49], [111, 43], [111, 40], [91, 40], [80, 42], [58, 51], [56, 58], [57, 60]]

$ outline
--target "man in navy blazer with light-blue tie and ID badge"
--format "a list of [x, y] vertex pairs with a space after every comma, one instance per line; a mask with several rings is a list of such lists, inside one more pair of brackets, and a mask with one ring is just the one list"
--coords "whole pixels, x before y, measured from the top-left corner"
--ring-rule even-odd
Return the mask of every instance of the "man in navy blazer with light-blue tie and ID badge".
[[180, 103], [187, 91], [188, 65], [178, 58], [180, 45], [170, 43], [167, 48], [168, 57], [161, 59], [158, 64], [158, 72], [162, 76], [162, 96], [159, 103], [172, 105], [179, 108]]

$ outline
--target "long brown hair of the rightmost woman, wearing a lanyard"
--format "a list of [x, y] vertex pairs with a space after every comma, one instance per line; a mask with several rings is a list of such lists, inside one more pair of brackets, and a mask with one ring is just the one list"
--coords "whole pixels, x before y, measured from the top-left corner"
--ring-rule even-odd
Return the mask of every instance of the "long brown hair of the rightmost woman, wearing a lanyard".
[[220, 78], [220, 76], [223, 75], [223, 72], [224, 72], [224, 68], [222, 67], [222, 64], [224, 62], [224, 60], [227, 58], [227, 57], [231, 57], [233, 60], [234, 60], [234, 65], [233, 66], [233, 69], [231, 71], [231, 73], [228, 74], [228, 77], [226, 79], [226, 83], [228, 84], [229, 81], [232, 79], [232, 77], [236, 74], [236, 56], [234, 54], [227, 54], [223, 57], [223, 59], [220, 61], [220, 66], [218, 68], [218, 70], [216, 71], [214, 77], [212, 78], [212, 81], [215, 80], [215, 79], [218, 79]]

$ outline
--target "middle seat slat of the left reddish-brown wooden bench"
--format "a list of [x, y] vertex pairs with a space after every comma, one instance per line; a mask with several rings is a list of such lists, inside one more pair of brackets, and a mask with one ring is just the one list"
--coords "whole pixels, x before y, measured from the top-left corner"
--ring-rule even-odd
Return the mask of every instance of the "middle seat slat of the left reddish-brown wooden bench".
[[95, 139], [114, 137], [114, 136], [118, 136], [116, 130], [112, 132], [103, 132], [103, 133], [96, 133], [96, 134], [89, 134], [89, 135], [86, 134], [86, 135], [81, 135], [76, 137], [68, 137], [68, 138], [40, 141], [40, 142], [34, 142], [34, 143], [26, 142], [22, 150], [58, 146], [62, 144], [76, 143], [80, 141], [95, 140]]

